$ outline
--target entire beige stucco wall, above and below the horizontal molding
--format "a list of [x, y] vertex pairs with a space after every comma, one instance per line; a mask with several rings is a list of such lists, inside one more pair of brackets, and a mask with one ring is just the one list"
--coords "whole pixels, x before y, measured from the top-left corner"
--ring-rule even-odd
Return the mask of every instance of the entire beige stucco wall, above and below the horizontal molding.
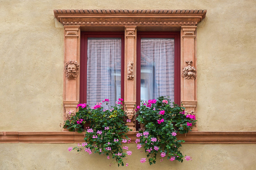
[[[53, 9], [206, 9], [197, 28], [198, 130], [256, 131], [255, 5], [254, 0], [1, 1], [0, 131], [62, 130], [63, 26]], [[105, 157], [67, 151], [75, 145], [1, 144], [0, 169], [117, 169]], [[255, 169], [255, 148], [187, 144], [183, 150], [192, 162], [165, 160], [150, 167], [138, 166], [144, 153], [136, 152], [128, 157], [128, 169]]]

